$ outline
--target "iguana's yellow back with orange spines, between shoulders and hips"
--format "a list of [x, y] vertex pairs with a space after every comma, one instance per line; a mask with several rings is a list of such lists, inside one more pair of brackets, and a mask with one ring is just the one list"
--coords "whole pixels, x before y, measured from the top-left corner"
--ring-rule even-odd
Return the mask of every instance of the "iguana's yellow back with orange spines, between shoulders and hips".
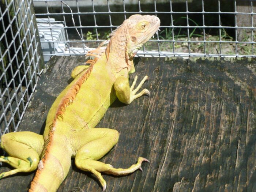
[[[94, 128], [116, 99], [113, 89], [115, 80], [116, 76], [108, 67], [106, 57], [91, 64], [77, 75], [54, 101], [47, 116], [46, 128], [50, 128], [50, 125], [58, 120], [66, 123], [67, 127], [72, 127], [71, 130], [65, 130], [67, 133]], [[49, 129], [45, 129], [45, 138], [48, 133]]]

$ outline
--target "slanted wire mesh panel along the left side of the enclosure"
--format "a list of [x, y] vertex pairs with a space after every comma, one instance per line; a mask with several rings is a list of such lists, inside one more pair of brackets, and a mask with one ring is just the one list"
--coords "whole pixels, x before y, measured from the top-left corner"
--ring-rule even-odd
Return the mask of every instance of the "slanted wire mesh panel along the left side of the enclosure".
[[40, 73], [32, 0], [2, 3], [6, 8], [0, 9], [0, 138], [17, 130]]

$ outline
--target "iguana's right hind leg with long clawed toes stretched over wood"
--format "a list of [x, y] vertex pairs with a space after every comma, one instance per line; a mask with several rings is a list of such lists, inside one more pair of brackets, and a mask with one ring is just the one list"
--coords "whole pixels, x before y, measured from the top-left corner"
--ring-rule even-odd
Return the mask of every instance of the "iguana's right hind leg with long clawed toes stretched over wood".
[[[139, 158], [138, 163], [132, 165], [128, 169], [116, 169], [112, 165], [102, 163], [97, 161], [102, 158], [106, 153], [108, 153], [114, 144], [118, 140], [118, 132], [114, 129], [106, 128], [95, 128], [87, 129], [86, 132], [79, 133], [79, 139], [84, 138], [86, 141], [88, 137], [93, 138], [93, 140], [87, 140], [87, 143], [81, 147], [75, 156], [76, 167], [84, 171], [91, 172], [95, 174], [99, 182], [103, 187], [103, 191], [106, 188], [106, 181], [103, 179], [101, 172], [105, 172], [113, 175], [127, 175], [134, 172], [137, 169], [141, 169], [141, 163], [147, 161], [147, 159]], [[78, 139], [78, 137], [76, 137]], [[89, 138], [89, 139], [90, 139]], [[79, 141], [80, 143], [81, 141]]]

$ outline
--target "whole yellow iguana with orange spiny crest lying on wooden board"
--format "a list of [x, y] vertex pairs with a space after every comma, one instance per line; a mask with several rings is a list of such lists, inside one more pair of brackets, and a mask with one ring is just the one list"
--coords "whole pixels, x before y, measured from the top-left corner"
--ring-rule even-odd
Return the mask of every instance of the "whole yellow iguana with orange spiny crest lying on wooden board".
[[150, 94], [147, 89], [136, 94], [148, 76], [134, 89], [137, 76], [130, 87], [128, 73], [135, 71], [133, 56], [159, 26], [156, 16], [132, 15], [110, 34], [105, 48], [88, 53], [94, 59], [87, 61], [89, 66], [78, 66], [72, 71], [75, 79], [50, 108], [44, 135], [24, 131], [2, 136], [1, 147], [10, 156], [1, 156], [0, 161], [15, 169], [1, 173], [0, 178], [37, 169], [29, 192], [57, 191], [68, 174], [71, 158], [75, 158], [76, 167], [95, 174], [104, 191], [106, 182], [101, 172], [121, 176], [141, 169], [141, 163], [147, 161], [142, 157], [128, 169], [99, 162], [117, 143], [119, 135], [114, 129], [91, 128], [116, 98], [129, 104]]

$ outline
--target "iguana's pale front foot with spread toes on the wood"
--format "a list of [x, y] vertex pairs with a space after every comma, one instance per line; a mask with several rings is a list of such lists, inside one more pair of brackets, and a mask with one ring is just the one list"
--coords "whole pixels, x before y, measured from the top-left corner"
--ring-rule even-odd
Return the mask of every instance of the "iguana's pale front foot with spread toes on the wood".
[[145, 83], [145, 81], [148, 80], [148, 76], [147, 75], [144, 76], [144, 78], [142, 79], [140, 84], [134, 89], [137, 79], [138, 79], [138, 75], [135, 76], [135, 78], [132, 82], [132, 86], [130, 88], [131, 96], [130, 96], [129, 103], [131, 103], [134, 99], [141, 97], [142, 95], [148, 95], [148, 97], [150, 97], [150, 92], [147, 89], [143, 89], [142, 91], [140, 91], [140, 93], [136, 94], [139, 91], [139, 89], [142, 87], [143, 83]]

